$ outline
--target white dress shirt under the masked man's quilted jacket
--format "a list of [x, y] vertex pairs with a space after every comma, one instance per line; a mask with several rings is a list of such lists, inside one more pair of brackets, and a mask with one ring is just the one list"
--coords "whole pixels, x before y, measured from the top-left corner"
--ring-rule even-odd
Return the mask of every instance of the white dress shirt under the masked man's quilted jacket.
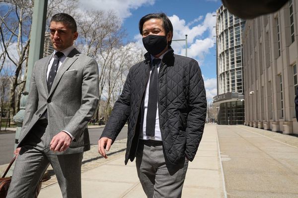
[[[167, 52], [167, 51], [166, 51]], [[159, 56], [158, 58], [160, 58], [162, 60], [163, 55], [166, 53], [164, 52], [161, 56]], [[151, 62], [153, 61], [155, 57], [151, 55]], [[159, 65], [157, 65], [157, 71], [159, 72], [159, 67], [160, 67], [161, 61], [159, 63]], [[161, 133], [160, 133], [160, 128], [159, 128], [159, 115], [158, 115], [158, 100], [156, 103], [157, 109], [156, 109], [156, 118], [155, 118], [155, 135], [154, 137], [150, 137], [150, 136], [146, 136], [146, 119], [147, 119], [147, 110], [148, 110], [148, 99], [149, 99], [149, 84], [150, 84], [150, 75], [151, 75], [151, 68], [153, 66], [150, 65], [150, 74], [149, 74], [149, 80], [148, 83], [146, 85], [146, 94], [145, 94], [145, 100], [144, 100], [144, 122], [143, 122], [143, 131], [141, 130], [141, 134], [140, 134], [140, 139], [143, 140], [155, 140], [155, 141], [162, 141], [161, 138]]]

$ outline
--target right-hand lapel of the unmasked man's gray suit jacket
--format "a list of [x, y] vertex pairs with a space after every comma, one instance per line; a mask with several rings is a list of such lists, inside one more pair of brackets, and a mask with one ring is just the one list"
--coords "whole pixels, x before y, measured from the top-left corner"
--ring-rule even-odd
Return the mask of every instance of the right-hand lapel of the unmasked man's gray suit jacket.
[[60, 82], [61, 77], [63, 76], [64, 72], [68, 70], [68, 68], [74, 63], [74, 61], [78, 58], [79, 51], [76, 49], [73, 49], [70, 54], [66, 57], [62, 65], [59, 67], [56, 77], [54, 79], [51, 91], [49, 93], [49, 96], [52, 95], [53, 91], [56, 89], [57, 85]]

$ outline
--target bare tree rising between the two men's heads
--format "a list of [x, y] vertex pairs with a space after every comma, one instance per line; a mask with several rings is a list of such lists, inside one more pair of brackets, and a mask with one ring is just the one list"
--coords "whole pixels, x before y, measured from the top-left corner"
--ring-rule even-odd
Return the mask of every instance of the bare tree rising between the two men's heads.
[[[79, 38], [76, 47], [86, 55], [95, 58], [99, 65], [99, 93], [100, 100], [107, 83], [110, 67], [116, 61], [115, 50], [122, 46], [126, 37], [121, 28], [120, 19], [112, 11], [87, 11], [77, 21]], [[96, 113], [96, 119], [103, 114], [102, 102]], [[106, 105], [105, 105], [106, 106]]]

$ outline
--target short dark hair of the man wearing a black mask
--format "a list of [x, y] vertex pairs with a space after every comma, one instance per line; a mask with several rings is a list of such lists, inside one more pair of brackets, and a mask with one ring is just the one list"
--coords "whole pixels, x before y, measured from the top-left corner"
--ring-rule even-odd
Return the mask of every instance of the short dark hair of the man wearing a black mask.
[[[170, 19], [167, 17], [165, 13], [151, 13], [147, 14], [146, 16], [143, 16], [139, 22], [139, 29], [140, 29], [140, 34], [143, 35], [143, 25], [146, 21], [152, 19], [152, 18], [157, 18], [162, 20], [162, 26], [165, 31], [165, 35], [167, 35], [169, 32], [172, 32], [172, 38], [173, 38], [173, 25], [170, 21]], [[172, 38], [169, 41], [168, 45], [170, 46], [172, 43]]]

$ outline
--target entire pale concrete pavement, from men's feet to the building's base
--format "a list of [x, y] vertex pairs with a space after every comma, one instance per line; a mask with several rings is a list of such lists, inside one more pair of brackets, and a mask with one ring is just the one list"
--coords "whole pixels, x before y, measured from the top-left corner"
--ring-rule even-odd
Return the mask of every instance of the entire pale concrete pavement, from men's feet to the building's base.
[[[97, 146], [84, 153], [83, 198], [145, 198], [135, 162], [124, 165], [126, 140], [103, 159]], [[39, 198], [61, 198], [56, 177]], [[207, 124], [182, 198], [298, 198], [298, 138], [248, 126]]]

